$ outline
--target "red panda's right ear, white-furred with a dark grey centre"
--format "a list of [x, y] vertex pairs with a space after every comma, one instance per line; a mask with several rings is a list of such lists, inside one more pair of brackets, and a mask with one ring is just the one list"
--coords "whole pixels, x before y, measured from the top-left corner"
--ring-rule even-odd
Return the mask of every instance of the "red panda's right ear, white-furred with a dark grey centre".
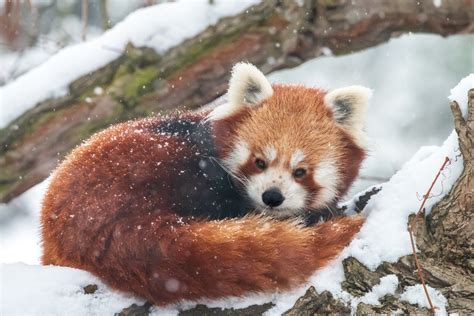
[[372, 90], [362, 86], [349, 86], [330, 91], [324, 97], [336, 121], [354, 136], [359, 146], [365, 147], [364, 118]]

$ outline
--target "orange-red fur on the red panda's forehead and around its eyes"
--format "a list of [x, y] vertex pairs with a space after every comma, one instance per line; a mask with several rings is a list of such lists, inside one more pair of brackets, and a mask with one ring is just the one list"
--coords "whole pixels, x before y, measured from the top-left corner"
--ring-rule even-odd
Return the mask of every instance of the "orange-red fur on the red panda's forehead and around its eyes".
[[[244, 139], [253, 153], [268, 144], [275, 145], [278, 155], [274, 164], [280, 163], [281, 158], [289, 159], [296, 148], [304, 149], [305, 161], [310, 165], [302, 184], [310, 192], [319, 189], [319, 184], [312, 181], [315, 170], [311, 167], [330, 157], [341, 174], [337, 190], [338, 196], [343, 196], [359, 173], [365, 151], [335, 122], [332, 111], [324, 104], [325, 94], [304, 86], [274, 85], [273, 95], [260, 106], [253, 110], [243, 108], [226, 118], [225, 123], [217, 122], [218, 132], [222, 132], [217, 135], [226, 135], [218, 139], [225, 141], [222, 155], [228, 154], [236, 138]], [[245, 120], [251, 111], [258, 114]], [[243, 174], [258, 172], [255, 158], [258, 157], [252, 155], [241, 167]], [[285, 167], [291, 170], [288, 160]]]

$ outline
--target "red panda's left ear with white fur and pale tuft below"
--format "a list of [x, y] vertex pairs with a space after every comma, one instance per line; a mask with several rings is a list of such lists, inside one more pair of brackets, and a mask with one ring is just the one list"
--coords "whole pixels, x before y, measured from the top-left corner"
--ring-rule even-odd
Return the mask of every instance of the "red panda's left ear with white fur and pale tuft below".
[[272, 86], [257, 67], [248, 63], [238, 63], [232, 68], [227, 92], [228, 103], [215, 108], [208, 119], [226, 118], [243, 106], [259, 104], [272, 94]]

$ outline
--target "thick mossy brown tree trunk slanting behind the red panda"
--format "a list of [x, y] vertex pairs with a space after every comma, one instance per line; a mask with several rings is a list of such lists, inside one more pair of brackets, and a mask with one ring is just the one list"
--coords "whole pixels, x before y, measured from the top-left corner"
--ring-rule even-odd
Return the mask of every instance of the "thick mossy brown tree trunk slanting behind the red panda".
[[[224, 94], [238, 61], [269, 73], [325, 48], [345, 54], [403, 32], [471, 33], [473, 7], [473, 0], [444, 0], [440, 7], [432, 0], [269, 0], [163, 55], [129, 45], [110, 64], [72, 82], [68, 95], [37, 104], [0, 130], [0, 202], [42, 181], [74, 146], [110, 124], [194, 109]], [[96, 95], [95, 87], [103, 93]]]

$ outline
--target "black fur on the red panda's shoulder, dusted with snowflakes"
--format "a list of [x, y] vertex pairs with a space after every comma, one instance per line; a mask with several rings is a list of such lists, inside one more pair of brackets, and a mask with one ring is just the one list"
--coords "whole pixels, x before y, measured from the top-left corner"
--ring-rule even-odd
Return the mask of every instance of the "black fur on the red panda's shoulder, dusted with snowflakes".
[[182, 139], [196, 153], [180, 157], [176, 170], [172, 170], [176, 182], [164, 184], [172, 189], [175, 212], [224, 219], [252, 211], [249, 200], [219, 163], [209, 123], [172, 118], [157, 126], [155, 132]]

